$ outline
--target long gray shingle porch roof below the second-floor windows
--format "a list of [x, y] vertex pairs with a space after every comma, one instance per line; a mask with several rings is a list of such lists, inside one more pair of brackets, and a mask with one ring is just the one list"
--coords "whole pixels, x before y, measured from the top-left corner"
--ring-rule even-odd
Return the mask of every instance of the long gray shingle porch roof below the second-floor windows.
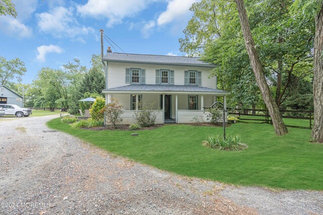
[[229, 93], [207, 87], [190, 85], [126, 85], [122, 87], [105, 89], [103, 91], [163, 91], [163, 92], [201, 92], [201, 93]]

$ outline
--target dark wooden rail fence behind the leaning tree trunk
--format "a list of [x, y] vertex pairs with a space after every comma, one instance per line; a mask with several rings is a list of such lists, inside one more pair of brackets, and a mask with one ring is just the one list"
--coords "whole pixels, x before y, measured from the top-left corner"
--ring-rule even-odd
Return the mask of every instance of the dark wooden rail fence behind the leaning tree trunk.
[[[283, 118], [290, 119], [307, 119], [309, 120], [309, 128], [312, 128], [312, 119], [314, 116], [313, 111], [303, 111], [303, 110], [280, 110]], [[229, 114], [239, 115], [240, 120], [252, 120], [252, 121], [264, 121], [265, 123], [272, 123], [271, 117], [267, 109], [237, 109], [234, 111], [229, 111]], [[252, 118], [243, 118], [243, 116], [260, 116], [264, 117], [263, 119], [252, 119]], [[296, 125], [287, 125], [289, 127], [300, 127]], [[308, 128], [308, 127], [305, 127]]]

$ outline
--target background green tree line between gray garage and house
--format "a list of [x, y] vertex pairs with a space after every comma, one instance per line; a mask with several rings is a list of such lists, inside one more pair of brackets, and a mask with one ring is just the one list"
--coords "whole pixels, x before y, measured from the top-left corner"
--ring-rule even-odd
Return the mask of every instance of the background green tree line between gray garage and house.
[[[6, 85], [24, 97], [25, 107], [61, 108], [71, 114], [78, 113], [78, 100], [103, 96], [104, 68], [100, 55], [93, 54], [92, 66], [82, 66], [79, 59], [63, 65], [63, 69], [41, 68], [32, 84], [21, 84], [26, 72], [19, 58], [7, 60], [0, 57], [0, 85]], [[81, 104], [83, 106], [87, 103]], [[85, 107], [83, 107], [85, 108]], [[88, 107], [87, 107], [88, 109]]]

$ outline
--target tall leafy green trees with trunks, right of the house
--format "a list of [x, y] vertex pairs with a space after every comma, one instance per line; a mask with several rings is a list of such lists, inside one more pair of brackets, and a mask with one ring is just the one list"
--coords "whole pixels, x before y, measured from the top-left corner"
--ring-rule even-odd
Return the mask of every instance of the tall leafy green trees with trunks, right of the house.
[[288, 132], [279, 108], [314, 110], [311, 138], [323, 142], [322, 0], [202, 0], [190, 10], [180, 49], [216, 64], [231, 105], [265, 106], [278, 135]]

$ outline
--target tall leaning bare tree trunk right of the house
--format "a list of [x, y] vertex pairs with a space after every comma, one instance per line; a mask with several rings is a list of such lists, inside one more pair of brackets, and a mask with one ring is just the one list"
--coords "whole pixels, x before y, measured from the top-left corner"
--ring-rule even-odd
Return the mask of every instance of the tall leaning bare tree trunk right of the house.
[[243, 0], [235, 0], [235, 2], [237, 3], [242, 33], [249, 54], [252, 70], [256, 77], [257, 85], [260, 89], [262, 98], [264, 100], [264, 103], [266, 104], [268, 112], [271, 115], [276, 134], [284, 135], [288, 133], [288, 130], [284, 124], [282, 115], [279, 112], [278, 106], [271, 95], [271, 91], [264, 77], [262, 65], [260, 63], [260, 58], [252, 39], [248, 16], [244, 7]]

